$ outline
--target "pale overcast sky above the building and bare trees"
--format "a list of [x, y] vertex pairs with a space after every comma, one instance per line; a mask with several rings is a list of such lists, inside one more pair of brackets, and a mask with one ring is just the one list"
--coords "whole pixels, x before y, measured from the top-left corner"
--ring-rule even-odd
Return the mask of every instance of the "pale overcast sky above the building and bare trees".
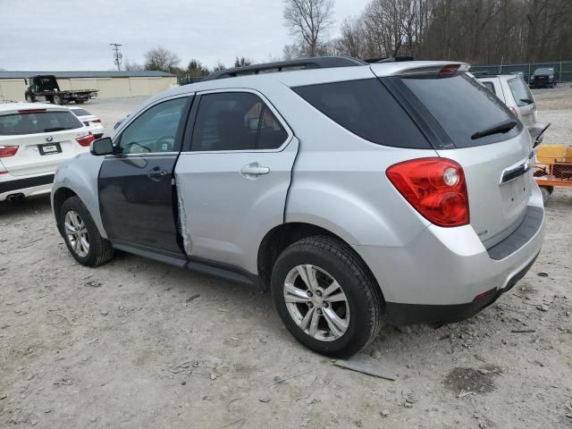
[[[335, 0], [335, 24], [359, 15], [369, 0]], [[264, 63], [292, 43], [282, 0], [0, 0], [0, 69], [113, 70], [110, 43], [123, 60], [143, 63], [163, 46], [185, 67], [197, 58], [231, 66], [236, 55]]]

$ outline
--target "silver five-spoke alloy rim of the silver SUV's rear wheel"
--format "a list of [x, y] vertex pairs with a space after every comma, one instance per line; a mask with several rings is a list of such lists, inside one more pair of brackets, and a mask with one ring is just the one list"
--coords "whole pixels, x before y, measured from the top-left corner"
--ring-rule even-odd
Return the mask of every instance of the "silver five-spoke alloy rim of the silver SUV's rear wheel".
[[335, 341], [349, 326], [349, 303], [340, 283], [315, 265], [297, 265], [284, 281], [292, 320], [317, 341]]

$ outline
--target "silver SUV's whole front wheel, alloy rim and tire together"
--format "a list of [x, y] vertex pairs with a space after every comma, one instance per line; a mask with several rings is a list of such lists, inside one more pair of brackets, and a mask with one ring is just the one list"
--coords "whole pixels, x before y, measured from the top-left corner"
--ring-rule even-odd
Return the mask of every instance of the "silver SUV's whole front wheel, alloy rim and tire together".
[[81, 265], [102, 265], [114, 256], [114, 248], [99, 234], [80, 198], [71, 197], [63, 202], [59, 226], [71, 256]]

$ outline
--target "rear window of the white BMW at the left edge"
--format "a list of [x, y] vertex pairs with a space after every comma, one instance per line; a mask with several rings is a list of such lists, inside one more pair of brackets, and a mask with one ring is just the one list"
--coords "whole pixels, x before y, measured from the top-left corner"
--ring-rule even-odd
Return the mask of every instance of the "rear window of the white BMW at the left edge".
[[0, 116], [0, 136], [75, 130], [83, 124], [70, 112], [38, 112]]

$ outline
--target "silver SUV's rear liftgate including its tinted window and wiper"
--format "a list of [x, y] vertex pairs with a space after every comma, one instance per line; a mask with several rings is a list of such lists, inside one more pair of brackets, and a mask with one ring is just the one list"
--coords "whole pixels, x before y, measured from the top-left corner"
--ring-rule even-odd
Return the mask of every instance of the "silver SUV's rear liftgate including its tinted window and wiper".
[[[485, 247], [514, 231], [526, 214], [533, 184], [533, 148], [522, 123], [488, 89], [462, 73], [382, 80], [388, 80], [404, 97], [416, 100], [417, 112], [435, 135], [441, 136], [439, 156], [462, 165], [470, 222]], [[510, 130], [483, 137], [477, 134], [515, 121]]]

